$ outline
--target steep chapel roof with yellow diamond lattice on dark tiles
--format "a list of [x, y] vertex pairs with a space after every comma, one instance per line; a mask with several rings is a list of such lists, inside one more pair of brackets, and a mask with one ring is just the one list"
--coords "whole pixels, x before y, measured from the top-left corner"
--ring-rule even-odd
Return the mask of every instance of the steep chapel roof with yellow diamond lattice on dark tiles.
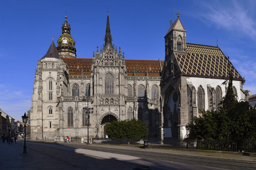
[[[183, 75], [208, 78], [229, 78], [229, 60], [219, 47], [187, 43], [187, 54], [175, 53]], [[234, 80], [242, 80], [231, 66]]]

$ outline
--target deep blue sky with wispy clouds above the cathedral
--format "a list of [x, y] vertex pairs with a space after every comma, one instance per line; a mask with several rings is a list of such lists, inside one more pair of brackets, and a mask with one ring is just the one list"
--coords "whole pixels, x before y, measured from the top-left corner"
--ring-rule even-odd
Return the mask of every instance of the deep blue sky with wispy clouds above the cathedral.
[[180, 12], [187, 42], [216, 46], [218, 39], [246, 79], [243, 89], [256, 94], [254, 0], [2, 1], [0, 108], [18, 120], [30, 109], [36, 64], [52, 35], [57, 45], [66, 10], [77, 57], [91, 58], [104, 43], [107, 8], [113, 43], [125, 58], [164, 60], [163, 37]]

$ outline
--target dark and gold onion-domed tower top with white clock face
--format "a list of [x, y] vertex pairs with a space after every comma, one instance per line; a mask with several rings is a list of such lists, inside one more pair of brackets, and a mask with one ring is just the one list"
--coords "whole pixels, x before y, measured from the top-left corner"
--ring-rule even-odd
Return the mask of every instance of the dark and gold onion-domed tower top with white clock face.
[[58, 52], [70, 52], [76, 55], [75, 49], [75, 41], [73, 40], [72, 36], [70, 35], [70, 25], [67, 22], [67, 16], [65, 16], [66, 21], [62, 25], [62, 34], [59, 36], [58, 39]]

